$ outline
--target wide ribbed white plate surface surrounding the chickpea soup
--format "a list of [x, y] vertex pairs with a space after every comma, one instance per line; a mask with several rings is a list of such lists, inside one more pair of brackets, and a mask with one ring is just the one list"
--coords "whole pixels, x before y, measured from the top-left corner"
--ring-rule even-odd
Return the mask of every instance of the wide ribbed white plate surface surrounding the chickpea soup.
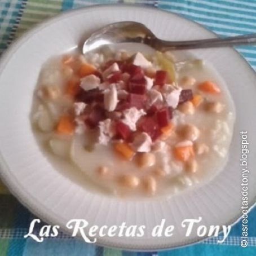
[[[91, 225], [145, 224], [149, 231], [166, 219], [175, 225], [172, 237], [102, 237], [98, 244], [135, 250], [174, 248], [204, 237], [184, 235], [185, 218], [202, 217], [206, 226], [235, 222], [241, 215], [241, 130], [250, 142], [249, 206], [255, 202], [256, 89], [255, 73], [232, 48], [195, 50], [212, 63], [226, 81], [236, 105], [236, 123], [229, 161], [209, 184], [171, 198], [122, 200], [92, 194], [70, 176], [52, 168], [32, 134], [29, 113], [32, 94], [42, 64], [52, 55], [75, 47], [83, 36], [116, 21], [144, 23], [163, 39], [198, 39], [215, 34], [189, 20], [147, 7], [97, 6], [61, 14], [30, 30], [12, 45], [0, 65], [1, 178], [11, 192], [46, 222], [65, 229], [70, 219], [83, 218]], [[65, 229], [67, 231], [67, 229]]]

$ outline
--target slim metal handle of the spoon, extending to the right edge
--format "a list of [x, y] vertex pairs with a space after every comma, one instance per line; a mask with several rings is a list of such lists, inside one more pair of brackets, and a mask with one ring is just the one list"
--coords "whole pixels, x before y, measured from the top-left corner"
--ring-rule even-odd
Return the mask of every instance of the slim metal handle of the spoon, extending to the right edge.
[[211, 48], [211, 47], [225, 47], [234, 45], [251, 45], [256, 43], [255, 34], [245, 34], [243, 36], [226, 37], [226, 38], [211, 38], [200, 39], [192, 41], [165, 41], [160, 40], [158, 50], [183, 50], [183, 49], [195, 49], [195, 48]]

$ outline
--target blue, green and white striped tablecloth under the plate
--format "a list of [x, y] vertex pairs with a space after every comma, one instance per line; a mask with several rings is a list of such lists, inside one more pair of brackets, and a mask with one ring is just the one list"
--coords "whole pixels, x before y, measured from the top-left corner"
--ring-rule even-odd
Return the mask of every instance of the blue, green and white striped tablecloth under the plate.
[[[204, 25], [219, 36], [237, 36], [256, 33], [256, 0], [0, 0], [0, 54], [8, 45], [33, 25], [61, 11], [99, 3], [130, 3], [148, 5], [176, 12]], [[256, 47], [237, 47], [237, 50], [256, 69]], [[85, 244], [64, 233], [58, 238], [46, 239], [39, 244], [23, 239], [30, 221], [35, 218], [8, 193], [0, 181], [0, 256], [176, 256], [176, 255], [256, 255], [256, 209], [249, 214], [248, 247], [240, 246], [242, 223], [232, 227], [226, 241], [219, 245], [218, 238], [171, 251], [137, 253], [101, 248]]]

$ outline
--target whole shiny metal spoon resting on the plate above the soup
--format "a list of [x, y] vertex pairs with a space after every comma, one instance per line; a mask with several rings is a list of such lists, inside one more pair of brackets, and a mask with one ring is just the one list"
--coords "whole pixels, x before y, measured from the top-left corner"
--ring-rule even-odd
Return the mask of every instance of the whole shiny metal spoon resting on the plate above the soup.
[[109, 24], [93, 33], [83, 44], [83, 54], [113, 43], [144, 43], [159, 51], [192, 48], [249, 45], [256, 43], [256, 34], [192, 41], [165, 41], [157, 38], [145, 25], [134, 21]]

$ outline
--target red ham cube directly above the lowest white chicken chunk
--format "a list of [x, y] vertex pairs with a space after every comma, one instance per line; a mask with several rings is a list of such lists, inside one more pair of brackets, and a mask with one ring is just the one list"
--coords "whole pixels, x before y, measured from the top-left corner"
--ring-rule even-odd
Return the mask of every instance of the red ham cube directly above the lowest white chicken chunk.
[[144, 117], [139, 123], [139, 129], [151, 136], [153, 141], [155, 141], [158, 136], [161, 135], [160, 126], [153, 117]]

